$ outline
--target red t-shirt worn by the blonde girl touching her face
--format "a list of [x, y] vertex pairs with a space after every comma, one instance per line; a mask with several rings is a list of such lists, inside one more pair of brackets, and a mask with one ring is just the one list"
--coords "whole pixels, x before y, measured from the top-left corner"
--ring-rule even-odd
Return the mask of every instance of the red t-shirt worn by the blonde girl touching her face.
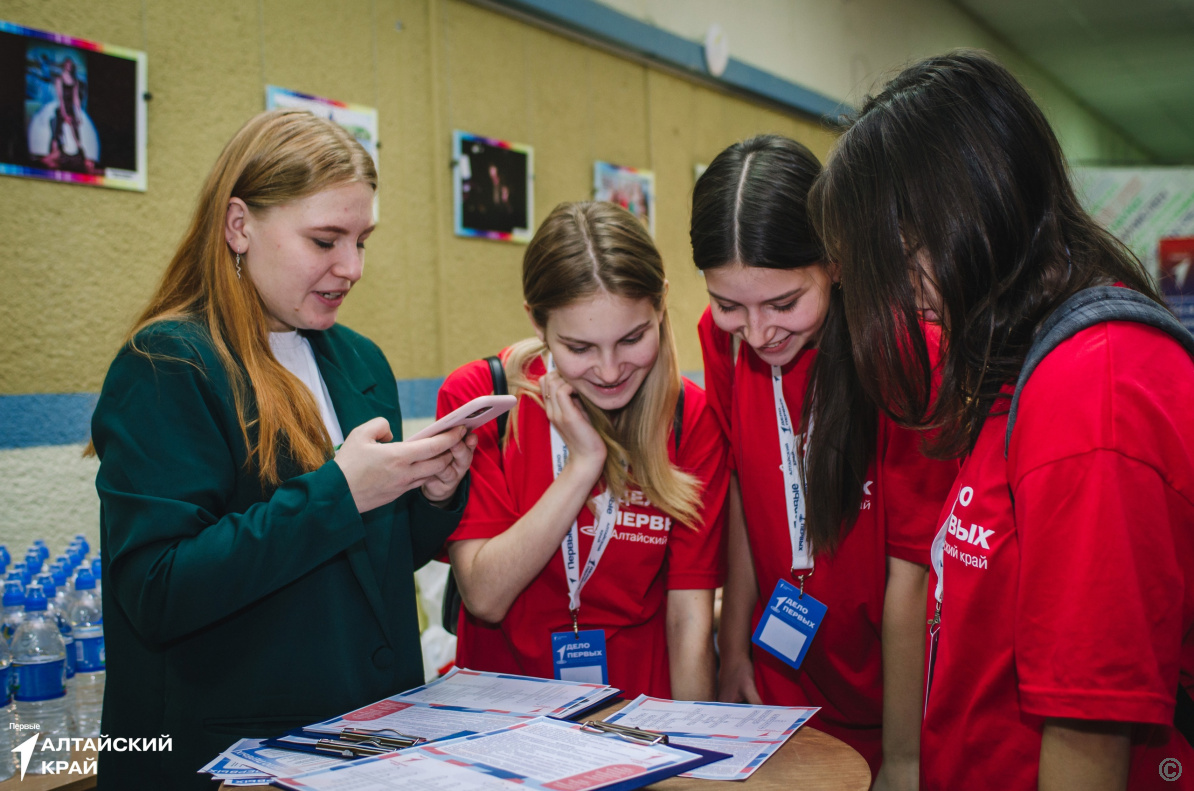
[[[531, 380], [543, 375], [536, 360]], [[493, 392], [488, 364], [481, 360], [455, 370], [439, 390], [438, 413]], [[478, 430], [468, 504], [451, 539], [493, 538], [538, 502], [552, 484], [550, 423], [533, 399], [518, 400], [517, 441], [498, 448], [497, 423]], [[722, 577], [722, 508], [728, 472], [726, 443], [704, 392], [684, 380], [684, 415], [677, 455], [669, 435], [669, 458], [702, 483], [701, 523], [678, 525], [632, 488], [620, 508], [615, 538], [581, 593], [580, 628], [604, 628], [609, 682], [629, 697], [667, 698], [666, 593], [713, 589]], [[604, 491], [598, 482], [593, 496]], [[593, 516], [578, 517], [580, 559], [592, 546]], [[695, 529], [694, 529], [695, 528]], [[460, 620], [456, 663], [496, 673], [552, 677], [552, 632], [570, 631], [568, 585], [561, 552], [518, 594], [501, 624], [486, 624], [467, 611]]]

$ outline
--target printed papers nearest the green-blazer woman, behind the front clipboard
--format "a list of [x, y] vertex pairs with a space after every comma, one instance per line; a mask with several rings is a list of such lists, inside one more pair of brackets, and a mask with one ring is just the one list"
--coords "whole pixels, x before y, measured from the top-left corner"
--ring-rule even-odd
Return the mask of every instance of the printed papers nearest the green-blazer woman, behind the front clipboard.
[[431, 683], [301, 731], [270, 740], [241, 740], [199, 772], [229, 785], [269, 785], [277, 777], [349, 764], [344, 756], [316, 747], [321, 738], [334, 738], [349, 729], [433, 742], [499, 730], [541, 716], [572, 717], [617, 693], [601, 683], [456, 668]]

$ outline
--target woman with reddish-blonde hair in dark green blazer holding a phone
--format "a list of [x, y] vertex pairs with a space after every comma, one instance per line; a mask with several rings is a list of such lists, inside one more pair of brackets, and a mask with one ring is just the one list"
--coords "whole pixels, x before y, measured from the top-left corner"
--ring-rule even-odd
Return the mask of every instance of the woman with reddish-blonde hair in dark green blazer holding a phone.
[[[109, 369], [100, 789], [208, 789], [238, 738], [423, 682], [413, 571], [460, 520], [475, 439], [402, 443], [381, 350], [336, 324], [376, 172], [310, 114], [250, 121]], [[338, 446], [338, 447], [337, 447]]]

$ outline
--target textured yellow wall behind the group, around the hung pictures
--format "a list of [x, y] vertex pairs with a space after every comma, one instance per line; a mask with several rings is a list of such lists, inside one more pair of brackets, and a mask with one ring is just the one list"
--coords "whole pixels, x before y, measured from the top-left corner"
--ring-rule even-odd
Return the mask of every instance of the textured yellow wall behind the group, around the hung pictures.
[[[460, 0], [0, 0], [0, 19], [148, 53], [149, 190], [0, 178], [0, 394], [96, 392], [180, 238], [207, 168], [266, 84], [377, 106], [381, 221], [340, 313], [400, 379], [441, 376], [529, 333], [524, 247], [453, 235], [453, 129], [535, 147], [535, 217], [586, 200], [592, 163], [657, 176], [656, 234], [681, 364], [706, 303], [688, 246], [693, 166], [816, 123]], [[401, 23], [401, 30], [395, 23]]]

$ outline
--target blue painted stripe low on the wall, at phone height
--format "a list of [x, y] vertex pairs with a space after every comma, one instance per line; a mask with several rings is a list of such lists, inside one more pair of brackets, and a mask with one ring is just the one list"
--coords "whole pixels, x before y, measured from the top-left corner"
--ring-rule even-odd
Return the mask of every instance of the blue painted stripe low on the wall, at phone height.
[[[685, 372], [684, 375], [704, 385], [703, 372]], [[399, 379], [402, 417], [408, 421], [435, 417], [436, 396], [443, 384], [443, 376]], [[0, 396], [0, 450], [86, 442], [97, 400], [97, 393]]]

